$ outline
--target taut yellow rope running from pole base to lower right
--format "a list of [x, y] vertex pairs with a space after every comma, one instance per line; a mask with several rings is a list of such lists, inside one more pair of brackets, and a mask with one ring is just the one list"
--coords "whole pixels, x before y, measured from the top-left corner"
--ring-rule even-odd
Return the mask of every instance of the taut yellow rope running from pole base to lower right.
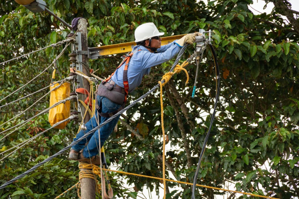
[[[152, 178], [152, 179], [156, 179], [156, 180], [163, 180], [163, 178], [158, 178], [158, 177], [153, 177], [153, 176], [148, 176], [148, 175], [141, 175], [141, 174], [124, 172], [124, 171], [115, 171], [115, 170], [104, 169], [104, 168], [103, 168], [103, 170], [110, 171], [110, 172], [121, 173], [121, 174], [125, 174], [125, 175], [135, 175], [135, 176], [144, 177], [144, 178]], [[175, 180], [170, 180], [170, 179], [166, 179], [166, 181], [193, 185], [193, 183], [175, 181]], [[208, 188], [208, 189], [217, 189], [217, 190], [226, 191], [226, 192], [240, 193], [240, 194], [244, 194], [244, 195], [251, 195], [251, 196], [256, 196], [256, 197], [261, 197], [261, 198], [279, 199], [279, 198], [272, 198], [272, 197], [269, 197], [269, 196], [256, 195], [256, 194], [252, 194], [252, 193], [233, 191], [233, 190], [229, 190], [229, 189], [222, 189], [222, 188], [213, 187], [213, 186], [205, 186], [205, 185], [200, 185], [200, 184], [196, 184], [196, 186], [205, 187], [205, 188]]]

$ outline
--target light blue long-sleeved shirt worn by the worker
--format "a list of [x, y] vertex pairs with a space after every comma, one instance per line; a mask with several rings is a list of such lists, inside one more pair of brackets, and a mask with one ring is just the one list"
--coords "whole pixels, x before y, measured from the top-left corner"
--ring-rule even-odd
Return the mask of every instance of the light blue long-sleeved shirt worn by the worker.
[[[138, 51], [139, 49], [140, 51]], [[129, 92], [132, 92], [141, 84], [142, 77], [149, 74], [151, 67], [170, 60], [179, 53], [180, 50], [181, 47], [174, 42], [161, 46], [161, 48], [157, 50], [157, 53], [149, 52], [144, 46], [134, 46], [132, 52], [135, 51], [135, 53], [132, 55], [128, 65]], [[123, 63], [111, 77], [112, 81], [120, 87], [123, 87], [124, 66], [125, 64]]]

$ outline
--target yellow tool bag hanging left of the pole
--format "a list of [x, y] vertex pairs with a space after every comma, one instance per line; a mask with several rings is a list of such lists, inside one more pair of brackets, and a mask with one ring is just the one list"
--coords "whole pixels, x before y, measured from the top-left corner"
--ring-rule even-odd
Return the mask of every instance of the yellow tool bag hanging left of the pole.
[[[53, 84], [50, 86], [50, 90], [52, 90], [50, 93], [50, 107], [53, 106], [55, 103], [64, 100], [65, 98], [70, 96], [71, 88], [69, 82], [64, 82], [59, 87], [58, 86], [59, 83], [57, 82], [53, 82]], [[56, 87], [58, 88], [53, 90]], [[49, 122], [51, 126], [53, 126], [57, 122], [60, 122], [70, 117], [70, 112], [71, 112], [70, 101], [66, 101], [65, 103], [61, 103], [56, 107], [51, 108], [49, 110]], [[64, 129], [65, 126], [68, 124], [68, 122], [69, 120], [57, 125], [54, 128]]]

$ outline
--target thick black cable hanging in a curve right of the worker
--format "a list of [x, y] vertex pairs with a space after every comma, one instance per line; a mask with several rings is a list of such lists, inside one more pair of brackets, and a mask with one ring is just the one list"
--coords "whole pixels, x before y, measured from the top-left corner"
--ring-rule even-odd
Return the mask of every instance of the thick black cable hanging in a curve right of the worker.
[[219, 73], [219, 66], [218, 66], [218, 62], [217, 62], [217, 58], [216, 58], [216, 53], [215, 53], [215, 50], [213, 49], [213, 46], [211, 44], [208, 44], [208, 46], [210, 47], [210, 50], [212, 51], [214, 64], [215, 64], [215, 68], [216, 68], [216, 80], [218, 79], [218, 85], [217, 85], [217, 91], [216, 91], [214, 110], [213, 110], [213, 114], [211, 116], [211, 121], [210, 121], [210, 127], [209, 127], [209, 130], [208, 130], [207, 135], [205, 137], [205, 140], [204, 140], [204, 143], [203, 143], [203, 146], [202, 146], [202, 150], [200, 152], [199, 160], [198, 160], [198, 163], [197, 163], [196, 172], [195, 172], [195, 175], [194, 175], [194, 178], [193, 178], [192, 199], [195, 199], [195, 187], [196, 187], [197, 177], [198, 177], [198, 174], [199, 174], [200, 163], [202, 161], [202, 157], [203, 157], [203, 154], [205, 152], [205, 148], [206, 148], [206, 145], [207, 145], [207, 142], [208, 142], [208, 138], [210, 136], [210, 131], [212, 129], [213, 121], [214, 121], [215, 114], [216, 114], [216, 105], [217, 105], [217, 102], [218, 102], [218, 99], [219, 99], [219, 92], [220, 92], [220, 73]]

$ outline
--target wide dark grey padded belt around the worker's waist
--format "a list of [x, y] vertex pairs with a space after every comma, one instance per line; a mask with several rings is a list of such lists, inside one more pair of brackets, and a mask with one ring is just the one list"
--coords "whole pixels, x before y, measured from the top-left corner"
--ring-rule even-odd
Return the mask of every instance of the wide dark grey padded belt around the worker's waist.
[[118, 113], [120, 110], [122, 110], [125, 107], [126, 92], [125, 92], [124, 88], [118, 86], [112, 80], [110, 80], [109, 82], [101, 83], [97, 88], [97, 95], [106, 97], [109, 100], [111, 100], [112, 102], [122, 105], [119, 109], [117, 109], [114, 112], [102, 113], [102, 111], [101, 111], [102, 104], [100, 104], [100, 106], [99, 106], [98, 103], [96, 103], [96, 109], [98, 111], [98, 114], [101, 117], [109, 118], [109, 117], [115, 115], [116, 113]]

